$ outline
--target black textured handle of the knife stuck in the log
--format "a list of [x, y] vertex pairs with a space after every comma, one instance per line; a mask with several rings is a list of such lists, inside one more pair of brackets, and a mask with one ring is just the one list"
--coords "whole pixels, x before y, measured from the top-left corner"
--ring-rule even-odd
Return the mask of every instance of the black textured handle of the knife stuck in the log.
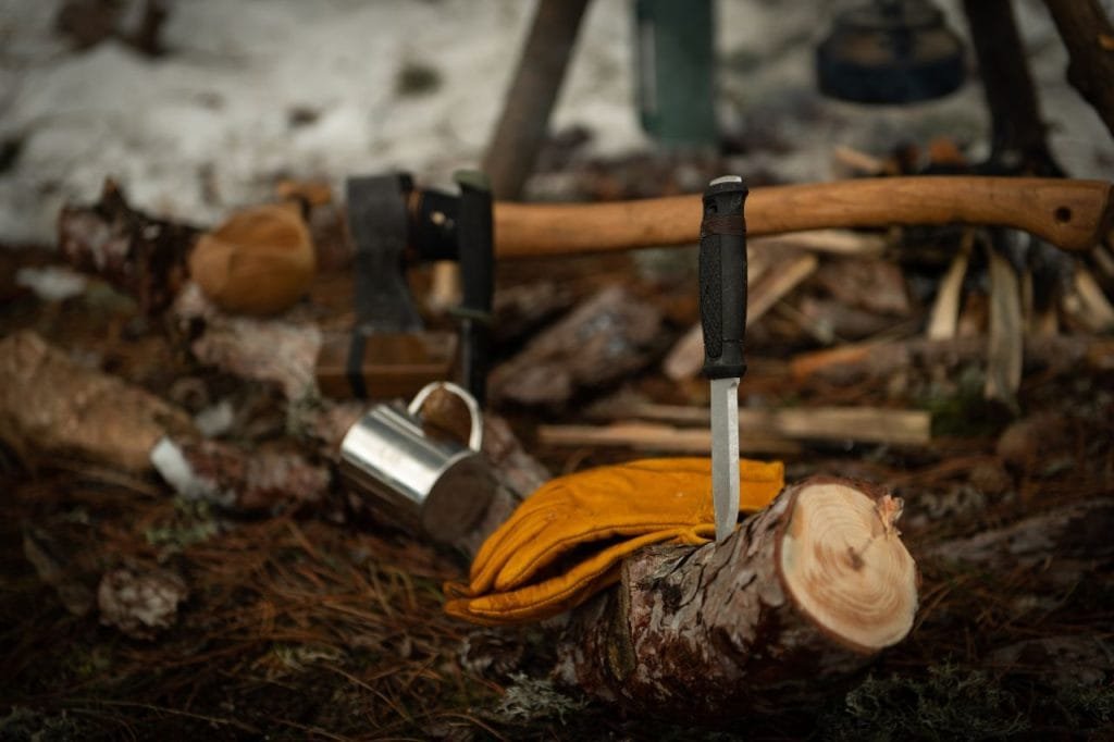
[[700, 225], [700, 319], [704, 331], [704, 375], [746, 372], [746, 221], [742, 178], [716, 178], [704, 192]]

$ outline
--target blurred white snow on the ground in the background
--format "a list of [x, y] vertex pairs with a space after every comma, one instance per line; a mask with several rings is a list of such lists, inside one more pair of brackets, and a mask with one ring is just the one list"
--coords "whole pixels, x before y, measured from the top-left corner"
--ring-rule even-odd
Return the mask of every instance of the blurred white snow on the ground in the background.
[[[401, 168], [444, 183], [478, 163], [535, 7], [174, 0], [169, 53], [148, 59], [113, 41], [69, 51], [52, 31], [59, 4], [0, 0], [0, 145], [21, 143], [0, 173], [0, 241], [51, 241], [58, 207], [94, 199], [107, 175], [137, 206], [201, 224], [270, 197], [283, 175], [340, 184]], [[936, 131], [985, 139], [977, 85], [900, 109], [821, 99], [812, 47], [848, 4], [719, 0], [724, 125], [771, 127], [794, 145], [747, 155], [740, 168], [822, 179], [834, 144], [885, 152]], [[962, 30], [958, 0], [945, 4]], [[1054, 29], [1035, 0], [1019, 8], [1054, 147], [1074, 175], [1112, 177], [1114, 144], [1064, 81]], [[634, 109], [633, 53], [631, 1], [595, 0], [551, 123], [593, 133], [584, 156], [652, 146]], [[400, 89], [407, 68], [433, 70], [439, 85]]]

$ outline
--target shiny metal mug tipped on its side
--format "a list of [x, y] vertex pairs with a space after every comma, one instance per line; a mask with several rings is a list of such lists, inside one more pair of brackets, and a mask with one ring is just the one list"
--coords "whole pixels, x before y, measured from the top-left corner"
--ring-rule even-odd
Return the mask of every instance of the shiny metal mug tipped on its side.
[[[424, 433], [418, 411], [443, 388], [468, 407], [468, 447]], [[438, 381], [419, 391], [409, 407], [375, 404], [352, 426], [341, 443], [341, 475], [372, 498], [372, 506], [400, 525], [441, 541], [466, 534], [487, 510], [495, 479], [480, 456], [483, 420], [479, 406], [457, 384]]]

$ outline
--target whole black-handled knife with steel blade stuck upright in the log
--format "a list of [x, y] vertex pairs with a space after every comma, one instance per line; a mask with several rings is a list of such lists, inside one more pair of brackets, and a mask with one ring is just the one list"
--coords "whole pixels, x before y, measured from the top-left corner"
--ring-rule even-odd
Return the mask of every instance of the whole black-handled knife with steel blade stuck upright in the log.
[[747, 189], [737, 175], [716, 178], [704, 192], [700, 241], [700, 315], [704, 375], [711, 380], [712, 505], [715, 540], [739, 519], [739, 380], [746, 372]]

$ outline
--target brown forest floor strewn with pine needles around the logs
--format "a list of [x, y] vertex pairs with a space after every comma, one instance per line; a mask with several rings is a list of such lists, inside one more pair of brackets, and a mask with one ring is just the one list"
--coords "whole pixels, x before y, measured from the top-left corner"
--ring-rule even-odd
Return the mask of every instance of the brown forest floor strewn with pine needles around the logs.
[[[632, 195], [628, 184], [645, 183], [646, 168], [662, 168], [658, 182], [667, 183], [676, 163], [600, 164], [580, 174], [587, 185], [577, 195]], [[842, 475], [902, 497], [900, 526], [921, 573], [912, 633], [849, 685], [818, 689], [814, 706], [711, 728], [700, 719], [625, 715], [550, 681], [546, 626], [477, 628], [446, 616], [441, 585], [460, 578], [467, 563], [360, 517], [335, 481], [322, 501], [236, 512], [176, 497], [155, 473], [37, 450], [9, 428], [0, 437], [0, 739], [1108, 739], [1110, 335], [1059, 312], [1059, 334], [1084, 354], [1068, 362], [1027, 357], [1016, 397], [1003, 401], [985, 399], [983, 352], [794, 373], [794, 359], [825, 346], [872, 340], [892, 348], [922, 334], [951, 253], [909, 232], [883, 236], [881, 254], [822, 254], [818, 270], [749, 333], [744, 407], [869, 407], [924, 411], [931, 420], [922, 442], [856, 442], [851, 435], [799, 440], [776, 455], [790, 480]], [[942, 231], [934, 240], [954, 246], [958, 236]], [[21, 269], [60, 264], [57, 253], [0, 256], [0, 275], [9, 276], [0, 336], [33, 330], [81, 364], [192, 412], [231, 400], [235, 423], [222, 436], [248, 449], [301, 445], [272, 385], [201, 363], [168, 321], [140, 315], [134, 300], [96, 279], [60, 301], [13, 280], [26, 275]], [[973, 260], [960, 322], [968, 341], [985, 338], [985, 267]], [[550, 471], [646, 451], [558, 446], [539, 440], [539, 426], [598, 422], [592, 403], [600, 400], [613, 410], [629, 399], [706, 402], [705, 382], [663, 371], [697, 321], [693, 269], [683, 248], [499, 266], [497, 296], [554, 295], [547, 286], [563, 296], [525, 334], [500, 341], [500, 363], [603, 287], [623, 287], [662, 318], [635, 371], [551, 404], [495, 396], [492, 412], [511, 421]], [[889, 314], [860, 306], [857, 323], [840, 324], [839, 310], [853, 309], [854, 299], [839, 293], [833, 275], [883, 276], [860, 295], [896, 285], [908, 301]], [[303, 304], [336, 322], [351, 312], [350, 297], [348, 274], [326, 272]], [[834, 330], [824, 335], [815, 318]], [[950, 342], [958, 348], [964, 338]], [[1047, 525], [1057, 514], [1068, 520], [1059, 530]], [[1034, 528], [1047, 534], [1036, 546]], [[985, 558], [970, 540], [980, 534], [998, 536]], [[180, 580], [186, 595], [172, 625], [147, 637], [106, 625], [97, 593], [106, 574], [121, 569]]]

